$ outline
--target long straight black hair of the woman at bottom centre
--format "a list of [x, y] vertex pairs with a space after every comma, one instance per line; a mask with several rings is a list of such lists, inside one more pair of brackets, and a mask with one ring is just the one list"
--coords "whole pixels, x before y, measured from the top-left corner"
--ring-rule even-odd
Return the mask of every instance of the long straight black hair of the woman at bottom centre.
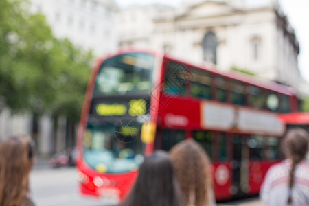
[[124, 206], [183, 206], [181, 190], [167, 152], [156, 151], [139, 167]]

